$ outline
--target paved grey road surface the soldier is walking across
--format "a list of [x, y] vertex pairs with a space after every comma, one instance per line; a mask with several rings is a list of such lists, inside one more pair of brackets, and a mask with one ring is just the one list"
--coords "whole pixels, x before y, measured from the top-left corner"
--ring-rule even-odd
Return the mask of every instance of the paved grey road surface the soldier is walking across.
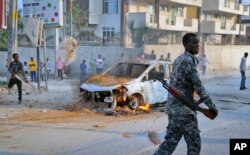
[[[219, 116], [211, 121], [198, 114], [201, 154], [227, 155], [230, 138], [250, 138], [250, 90], [239, 90], [239, 77], [205, 79], [204, 83], [219, 107]], [[1, 112], [4, 110], [1, 107]], [[147, 132], [157, 131], [159, 138], [163, 139], [168, 123], [163, 113], [155, 113], [155, 116], [147, 119], [120, 122], [116, 119], [110, 116], [108, 121], [95, 128], [93, 126], [100, 120], [56, 124], [2, 123], [0, 154], [150, 155], [158, 146], [148, 140]], [[174, 154], [186, 154], [183, 139]]]

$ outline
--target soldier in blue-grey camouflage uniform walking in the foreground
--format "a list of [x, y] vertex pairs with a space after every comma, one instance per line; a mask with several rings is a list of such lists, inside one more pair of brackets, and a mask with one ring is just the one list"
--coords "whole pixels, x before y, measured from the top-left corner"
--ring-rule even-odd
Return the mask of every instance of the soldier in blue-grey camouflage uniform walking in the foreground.
[[[174, 61], [170, 85], [190, 99], [193, 99], [192, 94], [195, 91], [213, 112], [214, 116], [217, 116], [218, 110], [203, 87], [197, 71], [197, 60], [194, 55], [198, 54], [199, 40], [196, 34], [185, 34], [182, 43], [185, 52]], [[167, 133], [165, 140], [161, 143], [155, 155], [172, 154], [182, 135], [187, 143], [187, 154], [200, 154], [201, 139], [196, 112], [171, 94], [168, 96], [166, 112], [169, 119]]]

